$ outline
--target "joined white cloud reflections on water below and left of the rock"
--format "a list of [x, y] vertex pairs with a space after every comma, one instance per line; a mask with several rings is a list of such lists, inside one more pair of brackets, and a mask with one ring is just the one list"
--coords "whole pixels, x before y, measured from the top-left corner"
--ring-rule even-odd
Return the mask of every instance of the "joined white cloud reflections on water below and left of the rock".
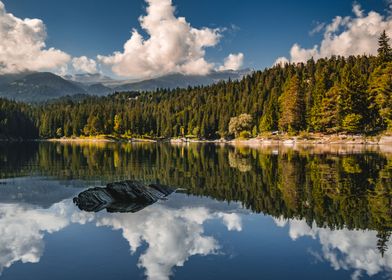
[[[241, 231], [239, 205], [225, 211], [198, 206], [198, 199], [188, 198], [187, 206], [176, 205], [184, 195], [176, 194], [174, 204], [159, 202], [138, 213], [110, 214], [79, 211], [71, 199], [48, 209], [32, 205], [0, 204], [0, 271], [15, 262], [38, 263], [44, 254], [44, 236], [64, 230], [71, 224], [93, 223], [96, 227], [120, 230], [130, 253], [141, 253], [138, 267], [148, 279], [169, 279], [173, 267], [183, 266], [195, 255], [217, 254], [219, 241], [204, 233], [204, 224], [214, 220], [229, 231]], [[192, 202], [196, 205], [192, 206]], [[181, 204], [181, 203], [180, 203]]]

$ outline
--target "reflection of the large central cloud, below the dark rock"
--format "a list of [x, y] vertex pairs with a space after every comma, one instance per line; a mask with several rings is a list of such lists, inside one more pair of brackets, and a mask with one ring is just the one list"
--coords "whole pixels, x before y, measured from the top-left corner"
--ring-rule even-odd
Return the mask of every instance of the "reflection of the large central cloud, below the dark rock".
[[218, 241], [204, 234], [206, 221], [221, 220], [230, 231], [241, 231], [241, 218], [236, 213], [212, 212], [205, 207], [173, 209], [155, 204], [138, 213], [97, 216], [97, 226], [122, 230], [131, 253], [145, 242], [148, 248], [139, 259], [147, 279], [169, 279], [174, 267], [183, 266], [195, 255], [216, 254]]

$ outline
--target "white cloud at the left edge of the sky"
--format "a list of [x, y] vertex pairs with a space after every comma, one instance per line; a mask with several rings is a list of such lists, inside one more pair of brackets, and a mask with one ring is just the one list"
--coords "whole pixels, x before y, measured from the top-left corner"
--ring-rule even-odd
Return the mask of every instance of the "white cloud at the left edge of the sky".
[[25, 70], [52, 70], [66, 65], [70, 56], [46, 48], [45, 25], [40, 19], [20, 19], [7, 13], [0, 1], [0, 74]]

